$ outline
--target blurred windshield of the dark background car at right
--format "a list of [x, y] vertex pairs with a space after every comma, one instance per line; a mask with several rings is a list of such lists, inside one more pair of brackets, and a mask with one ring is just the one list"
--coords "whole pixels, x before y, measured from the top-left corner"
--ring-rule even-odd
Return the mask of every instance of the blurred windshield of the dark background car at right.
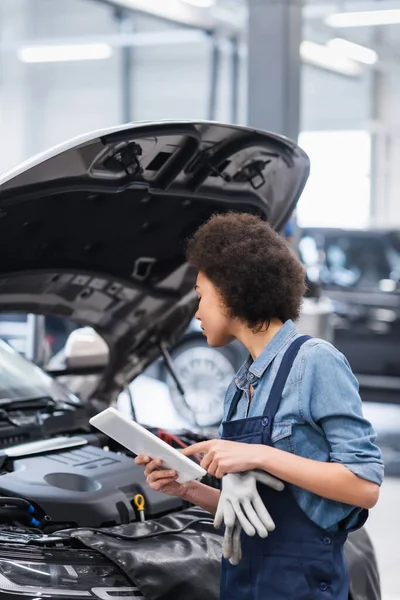
[[389, 235], [307, 231], [299, 251], [309, 279], [326, 286], [393, 291], [400, 279], [400, 252]]

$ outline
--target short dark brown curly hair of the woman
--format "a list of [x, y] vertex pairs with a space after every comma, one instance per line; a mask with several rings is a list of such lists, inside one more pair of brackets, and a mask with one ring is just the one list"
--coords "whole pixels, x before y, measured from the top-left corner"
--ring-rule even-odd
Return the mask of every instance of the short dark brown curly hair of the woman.
[[298, 318], [306, 291], [303, 266], [259, 217], [213, 215], [189, 240], [187, 258], [214, 284], [228, 314], [251, 329]]

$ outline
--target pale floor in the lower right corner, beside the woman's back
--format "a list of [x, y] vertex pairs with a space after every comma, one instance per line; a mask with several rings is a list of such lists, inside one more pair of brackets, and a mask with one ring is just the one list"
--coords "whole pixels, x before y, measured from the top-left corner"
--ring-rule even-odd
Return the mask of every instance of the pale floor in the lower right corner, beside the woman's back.
[[367, 530], [378, 557], [382, 600], [400, 600], [400, 479], [385, 479]]

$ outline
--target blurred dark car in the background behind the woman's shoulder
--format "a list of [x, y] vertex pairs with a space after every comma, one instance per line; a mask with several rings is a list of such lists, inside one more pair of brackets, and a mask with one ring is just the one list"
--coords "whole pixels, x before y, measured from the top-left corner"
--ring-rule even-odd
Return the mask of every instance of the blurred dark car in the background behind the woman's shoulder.
[[335, 313], [364, 400], [400, 403], [400, 231], [304, 228], [299, 253]]

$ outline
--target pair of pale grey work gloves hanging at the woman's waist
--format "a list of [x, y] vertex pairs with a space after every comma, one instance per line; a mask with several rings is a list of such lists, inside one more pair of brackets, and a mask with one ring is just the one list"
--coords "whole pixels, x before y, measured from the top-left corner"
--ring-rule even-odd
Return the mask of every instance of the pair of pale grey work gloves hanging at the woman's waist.
[[275, 529], [275, 523], [258, 493], [257, 482], [276, 491], [285, 487], [282, 481], [264, 471], [228, 473], [222, 478], [214, 527], [219, 529], [225, 524], [222, 554], [232, 565], [239, 564], [242, 558], [242, 529], [249, 536], [257, 533], [262, 538]]

